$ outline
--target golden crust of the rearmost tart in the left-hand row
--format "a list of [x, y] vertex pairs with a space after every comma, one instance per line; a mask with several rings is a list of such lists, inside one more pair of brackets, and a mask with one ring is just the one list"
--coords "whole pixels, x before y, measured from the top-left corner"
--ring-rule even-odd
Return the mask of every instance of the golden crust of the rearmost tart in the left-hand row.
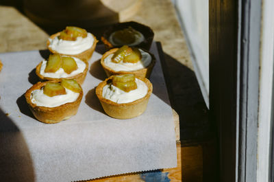
[[[49, 38], [51, 39], [54, 39], [56, 36], [59, 36], [61, 32], [57, 32], [56, 34], [52, 34]], [[95, 47], [98, 43], [96, 37], [92, 34], [93, 38], [94, 38], [94, 41], [93, 41], [93, 45], [87, 49], [86, 51], [82, 52], [82, 53], [79, 53], [79, 54], [73, 54], [73, 55], [70, 55], [70, 54], [60, 54], [59, 52], [56, 52], [55, 50], [51, 49], [51, 47], [49, 47], [49, 40], [47, 40], [47, 47], [49, 49], [49, 51], [52, 53], [52, 54], [60, 54], [60, 55], [64, 55], [64, 56], [73, 56], [73, 57], [76, 57], [76, 58], [79, 58], [79, 59], [82, 59], [82, 60], [89, 60], [93, 54], [93, 52], [95, 51]]]

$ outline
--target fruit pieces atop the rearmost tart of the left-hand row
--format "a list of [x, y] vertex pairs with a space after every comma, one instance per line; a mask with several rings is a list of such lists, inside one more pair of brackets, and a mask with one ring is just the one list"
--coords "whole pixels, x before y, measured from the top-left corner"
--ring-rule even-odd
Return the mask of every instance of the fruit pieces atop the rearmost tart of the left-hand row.
[[66, 27], [66, 29], [60, 33], [59, 38], [66, 41], [76, 41], [78, 36], [85, 38], [87, 35], [86, 30], [80, 27]]

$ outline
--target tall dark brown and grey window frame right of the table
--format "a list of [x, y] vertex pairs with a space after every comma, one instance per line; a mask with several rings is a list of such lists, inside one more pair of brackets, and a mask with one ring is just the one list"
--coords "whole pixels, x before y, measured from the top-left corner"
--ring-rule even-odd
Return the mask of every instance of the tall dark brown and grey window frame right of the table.
[[210, 0], [210, 120], [223, 182], [257, 177], [262, 1]]

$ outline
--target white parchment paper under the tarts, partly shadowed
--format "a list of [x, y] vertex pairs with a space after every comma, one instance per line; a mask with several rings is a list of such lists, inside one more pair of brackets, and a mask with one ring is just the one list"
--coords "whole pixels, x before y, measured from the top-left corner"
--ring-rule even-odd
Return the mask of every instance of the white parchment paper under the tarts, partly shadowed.
[[82, 85], [77, 115], [43, 124], [30, 113], [23, 94], [37, 81], [34, 68], [45, 51], [0, 54], [0, 178], [5, 181], [79, 181], [177, 165], [173, 113], [157, 59], [153, 94], [139, 117], [105, 115], [95, 87], [105, 79], [95, 52]]

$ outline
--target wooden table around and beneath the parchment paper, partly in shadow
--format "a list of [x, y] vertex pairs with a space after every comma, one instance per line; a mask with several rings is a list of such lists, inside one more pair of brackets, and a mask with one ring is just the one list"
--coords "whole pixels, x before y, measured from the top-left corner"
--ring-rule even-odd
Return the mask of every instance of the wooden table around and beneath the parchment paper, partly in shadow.
[[[180, 119], [177, 168], [92, 181], [215, 181], [217, 154], [214, 132], [171, 1], [142, 1], [140, 10], [123, 21], [148, 25], [155, 33], [154, 40], [162, 43], [171, 105]], [[98, 28], [94, 30], [101, 31]], [[20, 0], [0, 2], [0, 52], [46, 49], [45, 43], [53, 31], [56, 30], [39, 27], [30, 21], [23, 13]]]

